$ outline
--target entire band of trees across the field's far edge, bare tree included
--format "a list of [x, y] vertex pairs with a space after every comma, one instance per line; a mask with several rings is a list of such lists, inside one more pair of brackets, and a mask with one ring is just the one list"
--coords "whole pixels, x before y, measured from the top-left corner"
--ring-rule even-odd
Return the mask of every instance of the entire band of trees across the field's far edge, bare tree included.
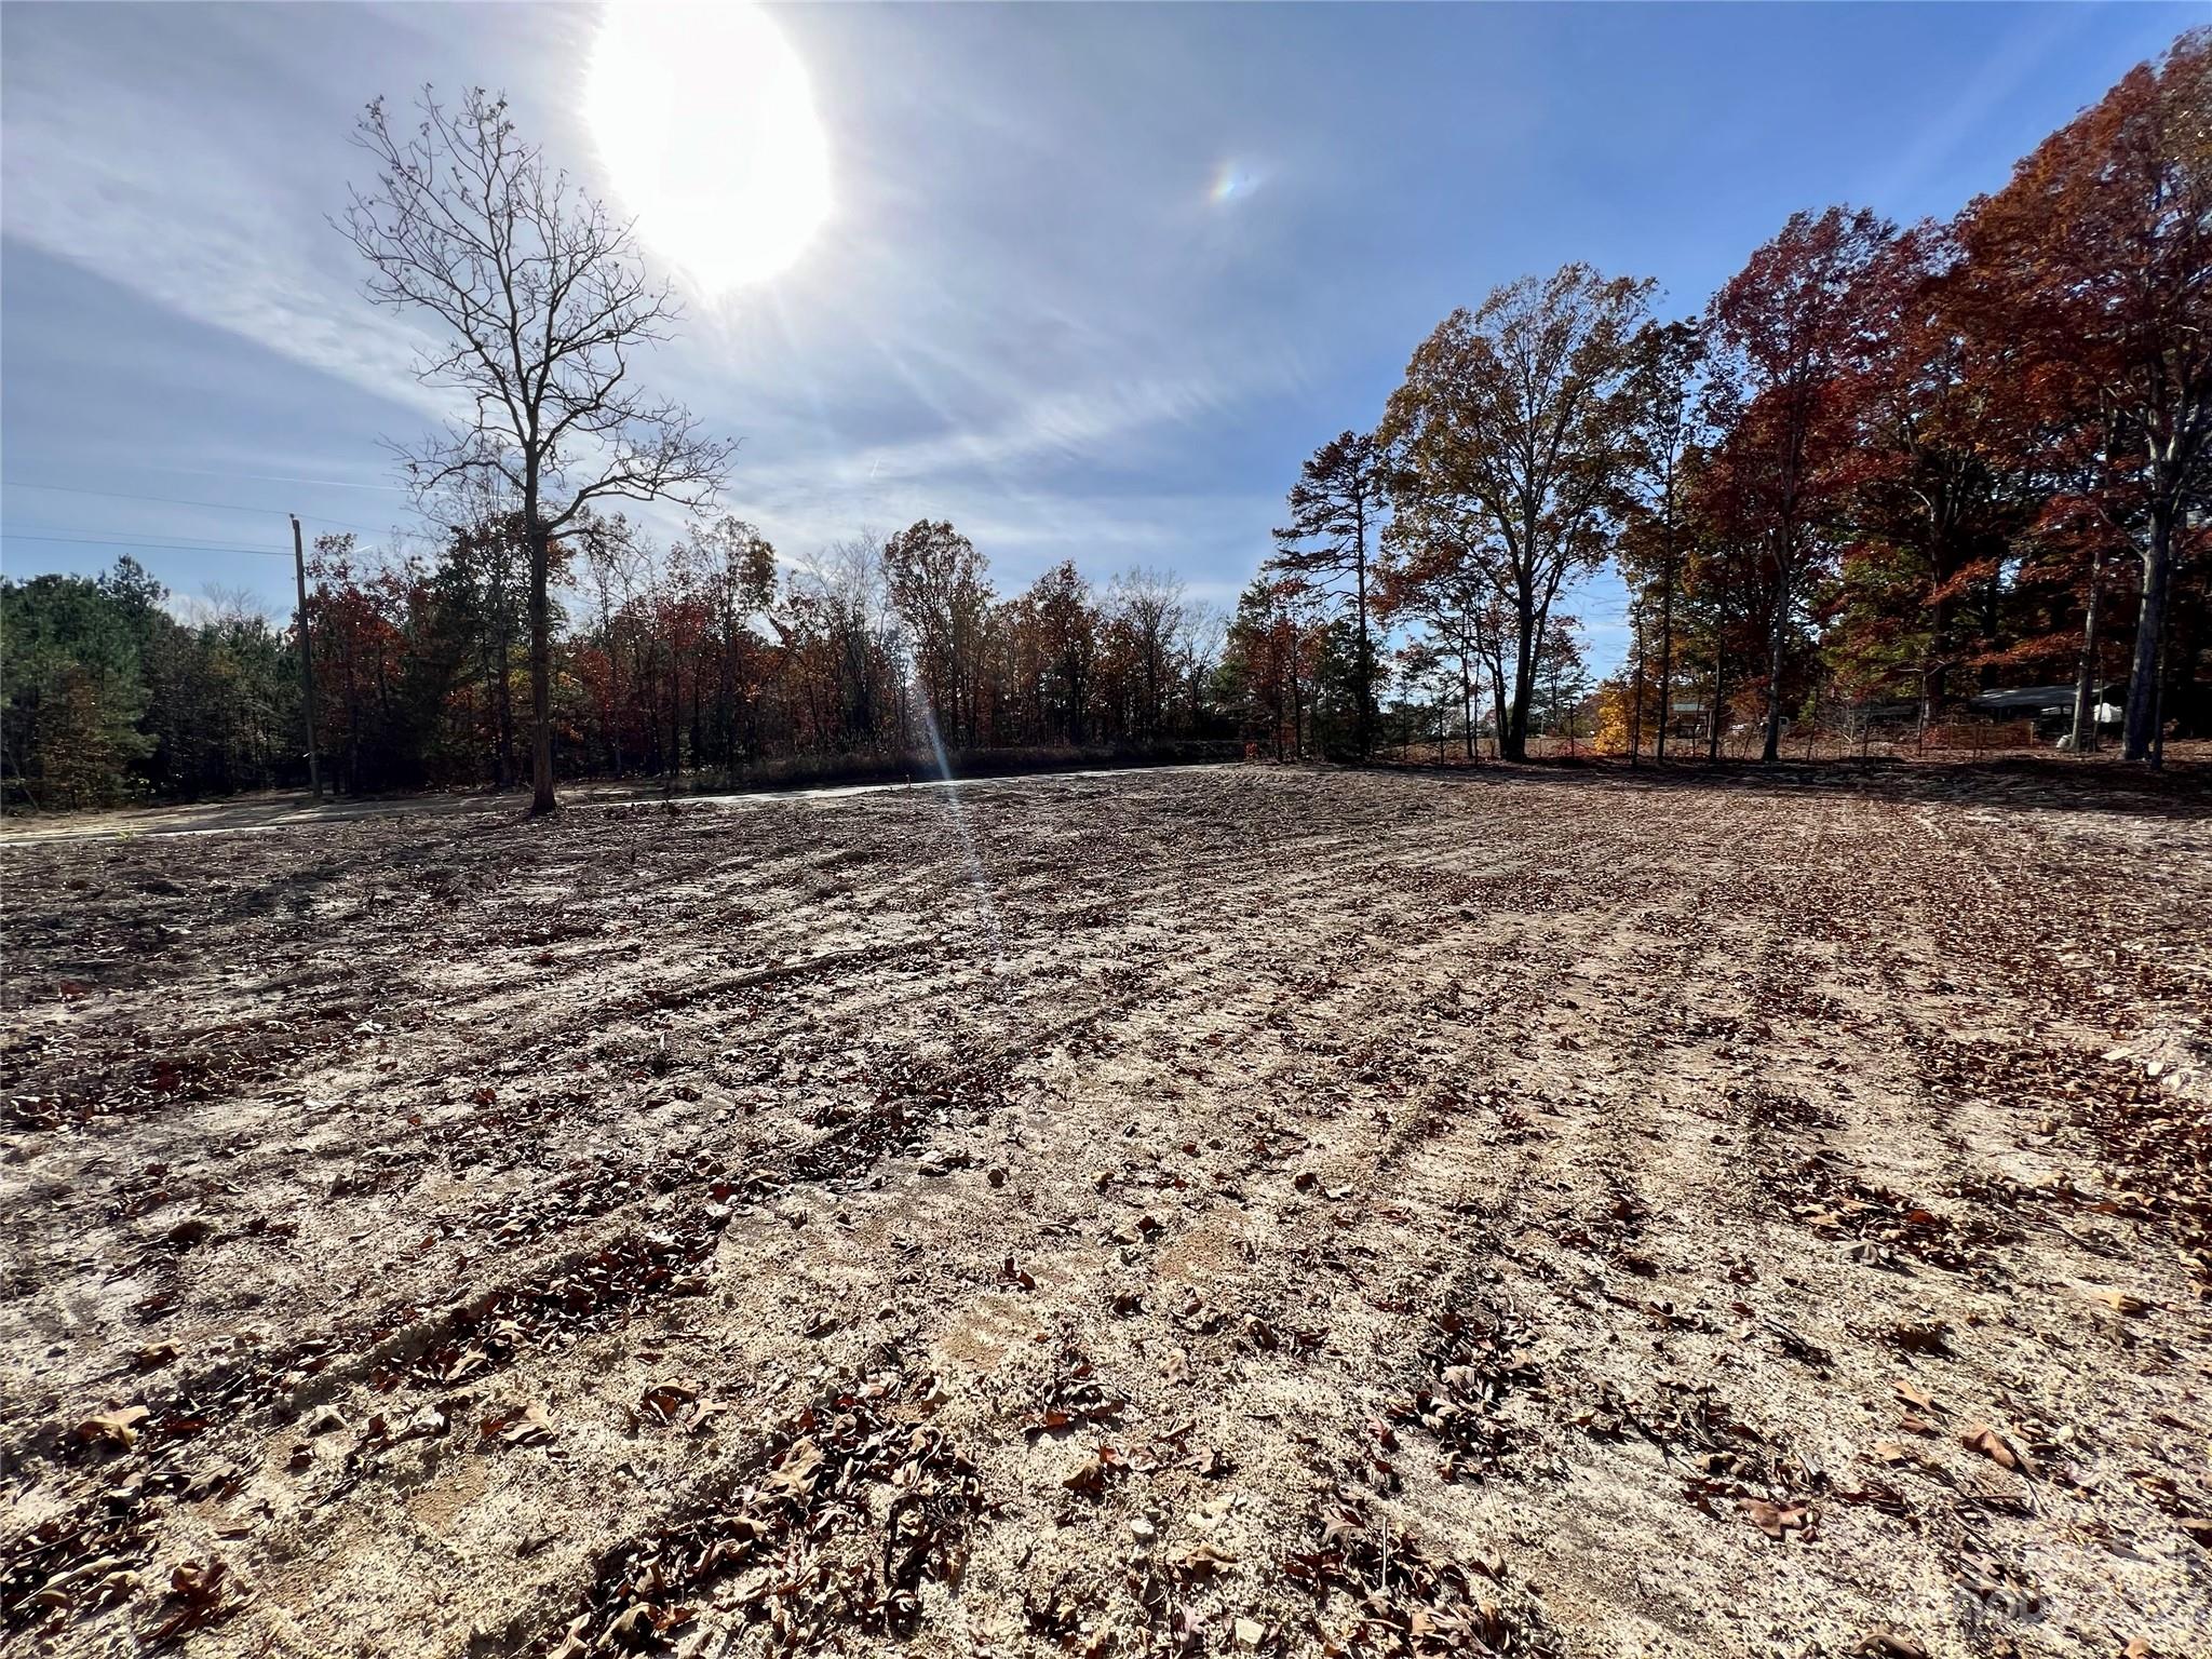
[[[1453, 312], [1380, 420], [1298, 469], [1228, 615], [1172, 575], [1073, 562], [1002, 595], [945, 522], [779, 560], [714, 511], [728, 449], [688, 414], [577, 389], [597, 336], [518, 385], [476, 365], [482, 296], [440, 290], [467, 261], [407, 230], [449, 223], [407, 199], [438, 177], [425, 155], [511, 184], [484, 197], [507, 215], [487, 246], [531, 248], [515, 217], [549, 199], [575, 215], [535, 246], [591, 263], [504, 285], [538, 307], [522, 334], [555, 338], [580, 283], [593, 327], [646, 336], [670, 312], [597, 206], [549, 197], [502, 104], [425, 108], [418, 139], [383, 106], [363, 124], [385, 166], [356, 195], [369, 299], [445, 319], [425, 380], [522, 418], [411, 462], [429, 557], [316, 542], [314, 732], [341, 790], [535, 770], [544, 807], [555, 776], [1190, 741], [1475, 757], [1486, 734], [1520, 759], [1577, 721], [1635, 757], [1734, 730], [1772, 759], [1807, 723], [1918, 728], [2022, 684], [2070, 686], [2068, 739], [2128, 759], [2212, 728], [2212, 33], [1947, 223], [1792, 215], [1694, 316], [1586, 265]], [[653, 465], [551, 489], [571, 422], [648, 429], [615, 451]], [[655, 546], [622, 498], [692, 507], [692, 529]], [[1562, 602], [1606, 564], [1630, 641], [1593, 690]], [[124, 560], [0, 582], [0, 641], [11, 803], [305, 779], [296, 626], [181, 619]]]

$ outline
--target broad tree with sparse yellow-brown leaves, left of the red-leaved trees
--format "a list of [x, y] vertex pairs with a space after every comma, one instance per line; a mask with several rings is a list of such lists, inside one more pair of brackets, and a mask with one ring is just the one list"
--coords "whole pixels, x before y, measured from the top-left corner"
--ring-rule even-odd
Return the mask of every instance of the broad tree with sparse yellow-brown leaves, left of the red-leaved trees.
[[1626, 498], [1624, 394], [1650, 292], [1588, 265], [1498, 288], [1422, 341], [1383, 418], [1394, 504], [1460, 549], [1511, 608], [1506, 759], [1528, 752], [1551, 608], [1606, 560]]

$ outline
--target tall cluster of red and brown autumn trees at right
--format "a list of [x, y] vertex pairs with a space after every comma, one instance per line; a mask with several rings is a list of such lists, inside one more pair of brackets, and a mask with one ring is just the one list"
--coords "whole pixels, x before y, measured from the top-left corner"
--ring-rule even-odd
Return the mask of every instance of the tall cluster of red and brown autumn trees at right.
[[1301, 469], [1239, 617], [1287, 657], [1349, 630], [1363, 752], [1396, 690], [1522, 759], [1577, 664], [1562, 597], [1608, 562], [1630, 754], [1683, 701], [1708, 752], [1734, 721], [1772, 761], [1814, 706], [1924, 726], [2022, 684], [2073, 686], [2079, 748], [2117, 686], [2128, 759], [2205, 726], [2212, 33], [1949, 223], [1798, 212], [1699, 314], [1655, 299], [1579, 263], [1506, 283]]

